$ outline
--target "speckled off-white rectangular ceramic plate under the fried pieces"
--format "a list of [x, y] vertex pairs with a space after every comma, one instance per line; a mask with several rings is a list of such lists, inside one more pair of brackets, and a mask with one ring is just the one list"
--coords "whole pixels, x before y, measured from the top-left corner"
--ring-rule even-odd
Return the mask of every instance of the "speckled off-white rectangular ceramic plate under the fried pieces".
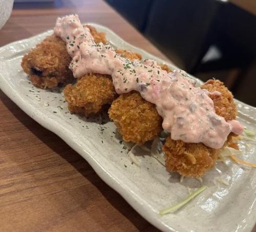
[[[107, 28], [93, 24], [106, 33], [118, 48], [131, 49], [143, 58], [156, 59]], [[175, 204], [187, 196], [187, 187], [196, 189], [200, 182], [185, 178], [180, 183], [177, 174], [169, 174], [157, 160], [141, 150], [137, 158], [141, 168], [133, 165], [127, 151], [119, 143], [116, 128], [106, 115], [80, 118], [70, 114], [67, 103], [58, 90], [34, 87], [20, 66], [20, 61], [36, 43], [52, 31], [29, 39], [13, 42], [0, 49], [0, 87], [5, 94], [30, 117], [60, 136], [82, 155], [97, 174], [135, 208], [147, 221], [164, 231], [250, 231], [255, 223], [256, 171], [233, 164], [217, 164], [203, 176], [208, 189], [176, 214], [159, 216], [159, 210]], [[170, 68], [175, 67], [168, 64]], [[197, 79], [198, 82], [200, 82]], [[238, 119], [256, 131], [256, 108], [238, 101]], [[248, 142], [247, 142], [248, 143]], [[240, 143], [246, 160], [256, 161], [255, 146]], [[229, 185], [215, 184], [215, 178], [225, 179]]]

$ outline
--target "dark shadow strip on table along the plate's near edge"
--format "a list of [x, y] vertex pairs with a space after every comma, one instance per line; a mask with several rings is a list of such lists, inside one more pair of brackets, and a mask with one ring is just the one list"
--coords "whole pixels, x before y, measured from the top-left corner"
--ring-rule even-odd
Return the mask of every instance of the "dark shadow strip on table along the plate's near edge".
[[[100, 191], [104, 198], [108, 200], [108, 202], [113, 207], [115, 207], [117, 211], [119, 211], [126, 219], [128, 219], [139, 231], [159, 231], [153, 225], [148, 224], [148, 222], [143, 219], [137, 212], [135, 212], [135, 210], [116, 191], [111, 189], [109, 185], [103, 182], [94, 171], [93, 173], [88, 172], [88, 169], [92, 168], [86, 160], [84, 160], [78, 153], [70, 148], [56, 134], [45, 129], [44, 127], [41, 127], [38, 123], [31, 119], [6, 95], [4, 95], [2, 90], [0, 90], [0, 99], [17, 120], [19, 120], [55, 153], [66, 159], [79, 173], [81, 173], [81, 175], [83, 175], [84, 178], [90, 181]], [[98, 221], [98, 223], [101, 224], [101, 221]]]

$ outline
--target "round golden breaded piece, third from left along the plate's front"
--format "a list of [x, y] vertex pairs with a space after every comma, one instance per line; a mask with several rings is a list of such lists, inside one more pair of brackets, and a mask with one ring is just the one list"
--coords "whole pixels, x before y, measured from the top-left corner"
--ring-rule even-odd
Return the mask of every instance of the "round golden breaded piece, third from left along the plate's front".
[[121, 95], [111, 105], [109, 116], [126, 142], [144, 144], [162, 130], [162, 118], [156, 106], [136, 91]]

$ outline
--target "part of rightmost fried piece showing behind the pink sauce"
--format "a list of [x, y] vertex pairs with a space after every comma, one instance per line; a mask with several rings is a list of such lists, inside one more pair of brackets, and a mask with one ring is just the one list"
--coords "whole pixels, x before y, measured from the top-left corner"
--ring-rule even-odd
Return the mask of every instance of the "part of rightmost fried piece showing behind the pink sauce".
[[209, 95], [214, 101], [214, 108], [218, 115], [222, 116], [226, 121], [236, 119], [237, 106], [233, 101], [232, 93], [227, 89], [223, 82], [219, 80], [208, 80], [202, 86], [209, 92], [219, 91], [221, 95]]

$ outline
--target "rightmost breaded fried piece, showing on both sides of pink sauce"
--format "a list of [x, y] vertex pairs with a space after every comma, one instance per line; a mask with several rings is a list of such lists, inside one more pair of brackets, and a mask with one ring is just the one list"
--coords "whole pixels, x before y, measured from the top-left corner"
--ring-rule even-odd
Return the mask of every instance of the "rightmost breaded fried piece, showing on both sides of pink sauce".
[[[216, 113], [225, 118], [232, 120], [236, 118], [237, 109], [233, 101], [231, 92], [218, 80], [207, 81], [201, 88], [210, 92], [219, 91], [221, 96], [210, 95], [215, 104]], [[232, 144], [232, 135], [228, 136], [228, 140], [224, 146]], [[204, 144], [184, 143], [180, 140], [174, 141], [167, 137], [162, 147], [165, 153], [165, 164], [167, 171], [178, 172], [184, 176], [199, 177], [207, 170], [213, 167], [218, 158], [220, 149], [212, 149]]]

